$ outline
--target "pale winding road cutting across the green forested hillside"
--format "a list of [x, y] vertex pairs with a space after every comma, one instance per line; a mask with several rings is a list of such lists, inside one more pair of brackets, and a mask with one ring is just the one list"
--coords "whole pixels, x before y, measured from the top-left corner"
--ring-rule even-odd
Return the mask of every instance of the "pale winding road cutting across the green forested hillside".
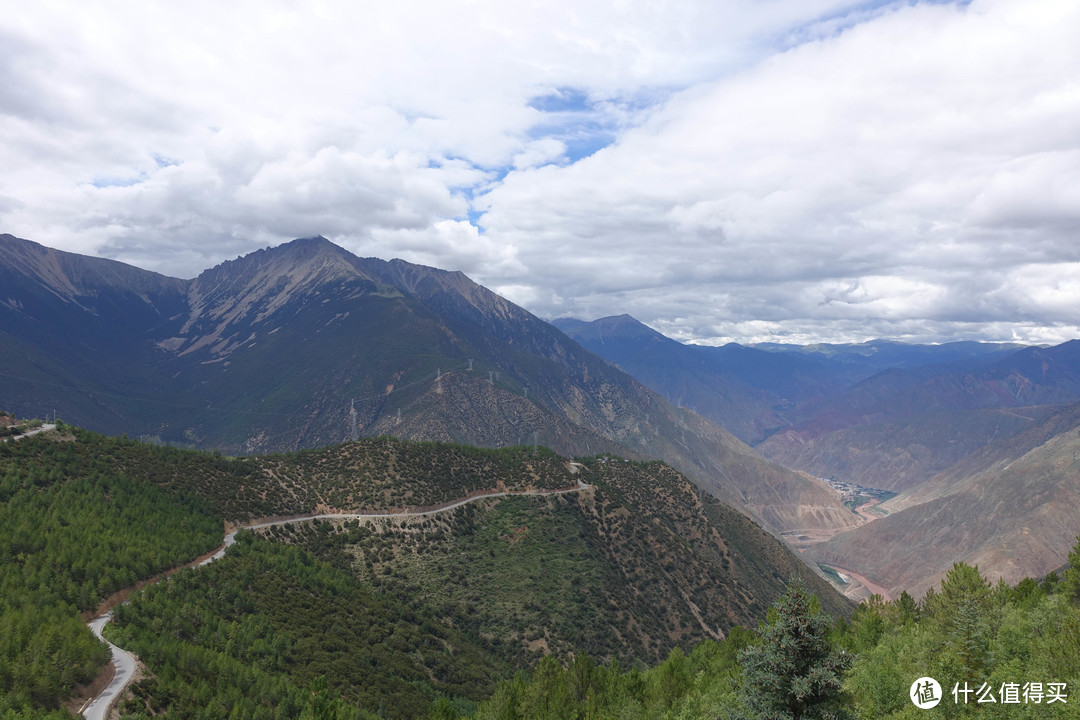
[[[571, 468], [575, 472], [576, 468]], [[308, 522], [311, 520], [356, 520], [356, 519], [369, 519], [369, 518], [394, 518], [394, 517], [419, 517], [423, 515], [435, 515], [437, 513], [445, 513], [447, 511], [461, 507], [468, 503], [474, 502], [476, 500], [486, 500], [489, 498], [503, 498], [507, 495], [558, 495], [565, 494], [567, 492], [580, 492], [588, 489], [589, 484], [584, 483], [580, 478], [578, 479], [577, 487], [573, 488], [563, 488], [562, 490], [503, 490], [498, 492], [486, 492], [482, 494], [472, 495], [470, 498], [462, 498], [460, 500], [455, 500], [442, 505], [437, 505], [428, 510], [417, 510], [417, 511], [402, 511], [400, 513], [332, 513], [327, 515], [303, 515], [300, 517], [291, 517], [282, 520], [267, 520], [266, 522], [254, 522], [251, 525], [245, 525], [238, 530], [228, 533], [225, 536], [225, 544], [211, 555], [208, 558], [199, 562], [198, 566], [204, 566], [217, 560], [218, 558], [225, 557], [225, 552], [229, 549], [231, 545], [237, 542], [237, 532], [240, 530], [258, 530], [260, 528], [270, 528], [278, 525], [289, 525], [293, 522]], [[112, 651], [112, 664], [116, 667], [116, 675], [109, 685], [103, 690], [96, 697], [86, 702], [82, 707], [82, 717], [86, 720], [105, 720], [109, 715], [109, 709], [112, 704], [120, 697], [124, 689], [131, 683], [132, 678], [135, 677], [136, 661], [135, 656], [112, 644], [102, 635], [105, 625], [112, 619], [112, 611], [109, 611], [102, 615], [100, 617], [94, 619], [89, 623], [91, 631], [100, 639], [104, 640], [109, 646], [109, 650]]]

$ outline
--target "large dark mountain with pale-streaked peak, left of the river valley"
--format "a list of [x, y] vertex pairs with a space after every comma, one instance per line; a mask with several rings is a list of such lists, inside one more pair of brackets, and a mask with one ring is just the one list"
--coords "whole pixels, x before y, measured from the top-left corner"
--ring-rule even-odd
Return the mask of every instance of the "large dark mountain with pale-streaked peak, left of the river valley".
[[0, 235], [0, 396], [109, 434], [255, 453], [357, 435], [659, 458], [775, 532], [858, 522], [473, 283], [322, 237], [177, 280]]

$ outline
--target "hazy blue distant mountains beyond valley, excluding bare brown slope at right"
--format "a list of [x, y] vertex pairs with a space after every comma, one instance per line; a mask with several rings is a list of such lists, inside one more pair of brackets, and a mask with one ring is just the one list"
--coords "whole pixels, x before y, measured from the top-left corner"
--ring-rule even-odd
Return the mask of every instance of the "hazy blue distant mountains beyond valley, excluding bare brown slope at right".
[[629, 315], [554, 324], [770, 460], [886, 490], [915, 487], [1080, 399], [1080, 341], [705, 348]]

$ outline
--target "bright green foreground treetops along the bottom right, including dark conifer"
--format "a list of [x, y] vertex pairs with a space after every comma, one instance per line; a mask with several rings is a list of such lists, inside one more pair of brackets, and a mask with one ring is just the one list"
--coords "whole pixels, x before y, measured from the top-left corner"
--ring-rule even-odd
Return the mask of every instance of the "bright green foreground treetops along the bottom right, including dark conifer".
[[[916, 602], [875, 596], [829, 621], [794, 586], [756, 633], [735, 628], [648, 670], [578, 655], [503, 681], [477, 720], [1076, 718], [1080, 688], [1080, 545], [1064, 581], [991, 586], [957, 563]], [[933, 710], [910, 689], [935, 679]], [[826, 715], [826, 712], [828, 715]], [[432, 716], [434, 719], [436, 716]], [[447, 716], [440, 716], [447, 717]]]

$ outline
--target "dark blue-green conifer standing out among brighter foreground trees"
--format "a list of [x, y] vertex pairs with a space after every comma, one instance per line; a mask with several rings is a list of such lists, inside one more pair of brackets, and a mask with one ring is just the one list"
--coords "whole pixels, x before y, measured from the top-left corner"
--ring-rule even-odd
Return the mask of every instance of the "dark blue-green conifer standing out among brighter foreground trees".
[[798, 581], [769, 611], [760, 642], [741, 650], [741, 711], [747, 720], [847, 720], [854, 714], [841, 699], [851, 656], [828, 642], [828, 615]]

